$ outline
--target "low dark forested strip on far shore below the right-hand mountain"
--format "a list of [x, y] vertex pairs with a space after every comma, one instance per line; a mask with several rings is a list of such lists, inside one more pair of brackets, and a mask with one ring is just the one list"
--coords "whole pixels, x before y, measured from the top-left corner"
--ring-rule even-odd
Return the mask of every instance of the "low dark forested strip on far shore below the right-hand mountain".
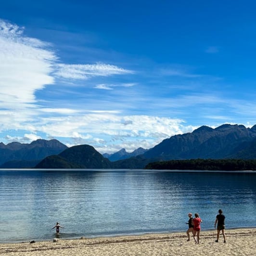
[[256, 160], [243, 159], [190, 159], [154, 162], [145, 169], [158, 170], [219, 170], [219, 171], [256, 171]]

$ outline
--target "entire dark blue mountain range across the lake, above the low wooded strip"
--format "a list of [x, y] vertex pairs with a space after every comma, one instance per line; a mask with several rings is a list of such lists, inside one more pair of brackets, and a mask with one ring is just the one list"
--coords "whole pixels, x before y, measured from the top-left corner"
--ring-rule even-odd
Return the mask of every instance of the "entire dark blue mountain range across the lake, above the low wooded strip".
[[[42, 161], [38, 161], [40, 157], [36, 153], [39, 149], [41, 152], [46, 152], [44, 147], [47, 142], [44, 140], [34, 141], [35, 144], [41, 144], [41, 147], [43, 144], [43, 149], [39, 147], [37, 150], [36, 148], [29, 150], [33, 142], [28, 144], [30, 146], [17, 142], [10, 143], [12, 145], [0, 143], [0, 163], [4, 162], [3, 156], [7, 156], [13, 147], [19, 154], [13, 152], [10, 154], [12, 157], [4, 159], [12, 160], [11, 163], [12, 165], [15, 163], [16, 168], [18, 168], [17, 161], [21, 160], [37, 160], [38, 162], [34, 165], [36, 168], [144, 168], [150, 162], [176, 159], [256, 159], [256, 125], [252, 128], [230, 124], [224, 124], [218, 128], [202, 126], [193, 132], [172, 136], [149, 150], [139, 148], [132, 153], [127, 153], [125, 149], [122, 149], [111, 155], [102, 155], [90, 145], [67, 148], [56, 140], [51, 140], [51, 143], [53, 141], [59, 145], [59, 151], [55, 149], [55, 153], [51, 153], [48, 150], [48, 155], [44, 156], [45, 158], [41, 157]], [[22, 145], [27, 145], [27, 149]], [[4, 148], [7, 146], [9, 151], [6, 153]], [[53, 151], [53, 148], [51, 150]], [[3, 168], [3, 164], [0, 167]]]

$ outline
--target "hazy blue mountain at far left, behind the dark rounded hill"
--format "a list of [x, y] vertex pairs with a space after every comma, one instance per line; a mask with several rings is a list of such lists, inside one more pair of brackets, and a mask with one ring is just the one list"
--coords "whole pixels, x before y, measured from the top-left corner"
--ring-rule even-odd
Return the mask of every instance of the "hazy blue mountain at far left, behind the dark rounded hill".
[[[33, 167], [36, 162], [39, 162], [46, 156], [52, 154], [59, 154], [67, 148], [66, 145], [57, 140], [37, 140], [30, 144], [12, 142], [7, 145], [0, 143], [0, 167], [1, 168], [13, 168], [18, 166], [19, 168]], [[20, 165], [18, 164], [20, 162]], [[26, 162], [24, 162], [26, 161]], [[7, 163], [8, 162], [8, 163]], [[13, 163], [12, 163], [13, 162]], [[32, 166], [30, 166], [30, 164]], [[6, 164], [5, 164], [6, 163]], [[29, 166], [27, 166], [27, 164]], [[9, 167], [8, 167], [9, 166]]]

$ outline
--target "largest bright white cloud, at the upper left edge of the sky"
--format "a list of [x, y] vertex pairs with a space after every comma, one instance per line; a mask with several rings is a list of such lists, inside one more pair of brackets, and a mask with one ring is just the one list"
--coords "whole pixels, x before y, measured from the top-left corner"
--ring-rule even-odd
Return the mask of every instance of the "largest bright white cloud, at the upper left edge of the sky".
[[35, 91], [54, 83], [57, 57], [47, 44], [23, 36], [23, 28], [0, 20], [0, 101], [8, 108], [34, 103]]

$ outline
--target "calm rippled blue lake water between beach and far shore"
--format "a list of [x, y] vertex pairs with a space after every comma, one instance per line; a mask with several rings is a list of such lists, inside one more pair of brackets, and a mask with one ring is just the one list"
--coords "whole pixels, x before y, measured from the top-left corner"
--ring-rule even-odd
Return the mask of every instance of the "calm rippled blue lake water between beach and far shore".
[[0, 243], [256, 227], [256, 173], [154, 170], [0, 170]]

